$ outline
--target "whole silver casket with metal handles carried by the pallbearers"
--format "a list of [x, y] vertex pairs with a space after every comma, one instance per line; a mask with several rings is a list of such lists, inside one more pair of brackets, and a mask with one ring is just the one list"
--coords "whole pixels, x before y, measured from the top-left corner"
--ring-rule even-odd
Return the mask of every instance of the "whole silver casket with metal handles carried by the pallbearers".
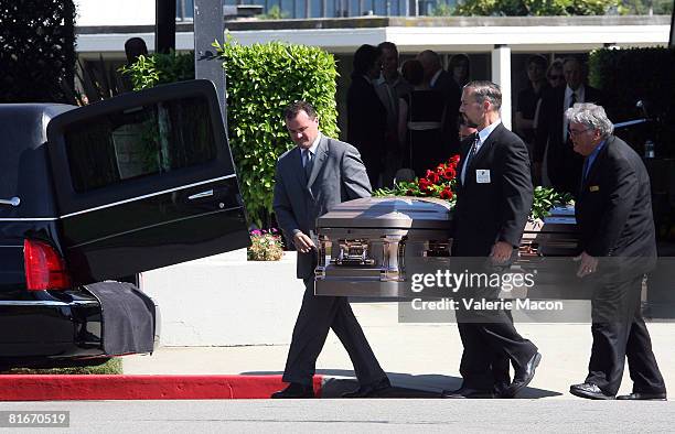
[[[539, 273], [535, 296], [570, 299], [562, 283], [577, 249], [574, 208], [551, 211], [527, 224], [512, 269]], [[367, 197], [338, 205], [317, 220], [315, 294], [409, 297], [413, 274], [450, 267], [451, 225], [450, 204], [436, 198]]]

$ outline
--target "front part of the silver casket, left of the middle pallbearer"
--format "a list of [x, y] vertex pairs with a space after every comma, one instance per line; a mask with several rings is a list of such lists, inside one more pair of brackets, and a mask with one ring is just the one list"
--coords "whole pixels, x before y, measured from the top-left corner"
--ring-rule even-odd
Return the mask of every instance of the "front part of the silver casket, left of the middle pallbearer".
[[366, 197], [317, 220], [317, 295], [398, 297], [409, 270], [444, 267], [451, 207], [419, 197]]

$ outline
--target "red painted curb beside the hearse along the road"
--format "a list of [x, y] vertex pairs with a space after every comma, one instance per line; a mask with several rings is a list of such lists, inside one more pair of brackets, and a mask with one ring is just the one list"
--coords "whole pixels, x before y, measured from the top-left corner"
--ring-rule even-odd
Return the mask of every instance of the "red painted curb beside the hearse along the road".
[[[322, 376], [314, 376], [321, 397]], [[281, 376], [0, 376], [0, 401], [265, 399]]]

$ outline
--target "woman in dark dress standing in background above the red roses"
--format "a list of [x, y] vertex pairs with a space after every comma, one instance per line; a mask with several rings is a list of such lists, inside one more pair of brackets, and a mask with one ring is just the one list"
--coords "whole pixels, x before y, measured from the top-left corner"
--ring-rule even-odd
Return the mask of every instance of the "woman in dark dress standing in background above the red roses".
[[448, 155], [443, 152], [442, 119], [446, 101], [441, 93], [424, 85], [424, 68], [419, 61], [407, 61], [401, 75], [414, 86], [409, 95], [399, 100], [399, 141], [404, 143], [404, 166], [425, 176]]

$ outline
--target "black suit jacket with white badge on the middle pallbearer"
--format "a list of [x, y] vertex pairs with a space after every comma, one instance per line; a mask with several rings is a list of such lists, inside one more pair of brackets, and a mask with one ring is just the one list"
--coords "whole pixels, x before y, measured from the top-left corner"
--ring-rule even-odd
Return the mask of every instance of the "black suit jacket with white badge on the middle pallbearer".
[[[462, 142], [460, 171], [474, 139]], [[490, 182], [478, 183], [476, 170], [490, 171]], [[469, 162], [464, 184], [458, 178], [457, 193], [453, 256], [488, 257], [496, 241], [518, 247], [533, 200], [523, 140], [500, 123]]]

